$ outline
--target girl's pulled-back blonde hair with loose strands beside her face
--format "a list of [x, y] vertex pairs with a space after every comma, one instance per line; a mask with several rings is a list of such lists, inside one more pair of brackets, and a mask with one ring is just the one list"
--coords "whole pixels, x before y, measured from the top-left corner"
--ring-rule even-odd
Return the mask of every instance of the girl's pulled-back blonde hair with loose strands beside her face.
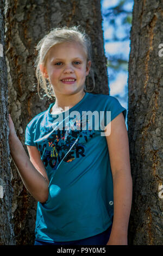
[[[40, 70], [40, 64], [46, 66], [47, 60], [47, 52], [49, 49], [54, 46], [55, 44], [59, 44], [61, 42], [78, 42], [80, 45], [83, 46], [83, 49], [86, 53], [87, 59], [86, 63], [91, 60], [92, 63], [92, 47], [91, 47], [91, 40], [89, 35], [87, 35], [83, 29], [83, 31], [79, 31], [79, 26], [73, 27], [57, 27], [51, 30], [47, 35], [45, 35], [39, 44], [36, 46], [36, 50], [38, 51], [35, 66], [36, 66], [36, 78], [37, 78], [37, 92], [39, 94], [39, 86], [45, 90], [46, 95], [50, 98], [54, 95], [53, 89], [51, 84], [46, 80], [45, 77], [42, 76]], [[90, 75], [93, 81], [93, 89], [95, 88], [95, 77], [92, 68], [90, 69]], [[92, 89], [92, 90], [93, 90]], [[90, 92], [92, 92], [92, 90]], [[84, 91], [86, 88], [84, 86]], [[40, 94], [39, 94], [40, 96]], [[40, 97], [41, 98], [41, 97]]]

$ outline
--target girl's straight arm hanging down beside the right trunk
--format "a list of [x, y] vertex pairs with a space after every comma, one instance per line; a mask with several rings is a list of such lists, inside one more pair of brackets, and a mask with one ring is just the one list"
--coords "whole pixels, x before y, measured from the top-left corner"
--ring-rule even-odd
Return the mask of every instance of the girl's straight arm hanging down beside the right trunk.
[[114, 185], [114, 219], [107, 245], [127, 245], [132, 199], [132, 178], [128, 133], [123, 113], [120, 113], [111, 121], [111, 132], [109, 136], [106, 136], [106, 141], [108, 143]]

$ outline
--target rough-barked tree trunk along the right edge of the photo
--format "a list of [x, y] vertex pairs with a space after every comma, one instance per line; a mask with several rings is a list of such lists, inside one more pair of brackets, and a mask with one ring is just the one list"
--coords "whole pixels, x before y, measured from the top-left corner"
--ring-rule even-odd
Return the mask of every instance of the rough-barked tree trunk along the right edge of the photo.
[[135, 1], [129, 58], [128, 135], [133, 205], [129, 240], [162, 245], [162, 1]]

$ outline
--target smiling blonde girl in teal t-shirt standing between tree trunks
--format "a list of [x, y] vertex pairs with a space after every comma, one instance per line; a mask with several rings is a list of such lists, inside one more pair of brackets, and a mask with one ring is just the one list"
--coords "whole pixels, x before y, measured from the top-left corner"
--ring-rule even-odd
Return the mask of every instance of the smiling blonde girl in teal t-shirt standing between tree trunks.
[[35, 245], [127, 245], [127, 111], [113, 96], [86, 92], [91, 44], [78, 27], [53, 29], [37, 50], [38, 83], [55, 97], [27, 125], [30, 160], [9, 115], [12, 159], [38, 201]]

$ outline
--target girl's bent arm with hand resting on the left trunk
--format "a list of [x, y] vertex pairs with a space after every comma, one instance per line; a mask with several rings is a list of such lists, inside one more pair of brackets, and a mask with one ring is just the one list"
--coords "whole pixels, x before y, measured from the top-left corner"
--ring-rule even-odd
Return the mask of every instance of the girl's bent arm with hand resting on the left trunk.
[[[48, 199], [48, 178], [42, 173], [45, 171], [40, 167], [40, 172], [37, 170], [30, 161], [26, 151], [23, 148], [22, 143], [18, 139], [14, 124], [9, 115], [9, 146], [10, 155], [14, 161], [18, 173], [21, 176], [24, 186], [30, 194], [39, 202], [45, 203]], [[41, 159], [40, 159], [41, 161]], [[39, 163], [37, 164], [39, 166]], [[41, 173], [42, 168], [42, 173]]]

